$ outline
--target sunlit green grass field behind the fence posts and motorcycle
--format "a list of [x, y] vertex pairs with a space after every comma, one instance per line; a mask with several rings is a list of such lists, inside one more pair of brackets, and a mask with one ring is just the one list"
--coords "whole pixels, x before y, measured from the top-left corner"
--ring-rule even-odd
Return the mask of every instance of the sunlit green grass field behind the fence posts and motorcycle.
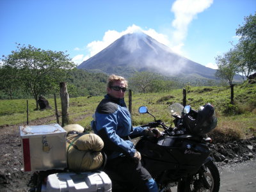
[[[148, 114], [139, 114], [140, 106], [147, 106], [148, 111], [167, 124], [172, 124], [168, 107], [174, 102], [182, 103], [182, 89], [165, 93], [133, 93], [132, 123], [134, 126], [152, 122]], [[70, 124], [80, 124], [90, 130], [90, 121], [103, 96], [70, 98], [68, 114]], [[191, 87], [187, 93], [187, 104], [193, 109], [210, 102], [216, 108], [218, 126], [212, 134], [225, 135], [226, 139], [245, 138], [256, 135], [256, 85], [244, 83], [234, 88], [235, 104], [230, 105], [228, 87]], [[128, 106], [128, 97], [125, 97]], [[35, 100], [28, 99], [29, 121], [55, 116], [54, 99], [49, 99], [52, 109], [35, 111]], [[0, 100], [0, 126], [26, 124], [26, 100]], [[58, 114], [61, 115], [61, 101], [57, 98]], [[53, 118], [54, 119], [54, 118]], [[60, 118], [61, 120], [61, 118]], [[48, 123], [54, 123], [51, 120]], [[225, 137], [223, 137], [225, 138]]]

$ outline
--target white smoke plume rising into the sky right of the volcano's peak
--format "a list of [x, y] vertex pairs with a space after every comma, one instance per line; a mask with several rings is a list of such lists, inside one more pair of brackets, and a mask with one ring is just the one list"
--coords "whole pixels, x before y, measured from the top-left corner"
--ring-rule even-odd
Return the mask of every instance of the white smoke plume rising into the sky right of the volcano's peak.
[[196, 19], [197, 14], [204, 12], [211, 6], [213, 0], [177, 0], [173, 3], [171, 11], [175, 15], [172, 26], [175, 29], [172, 32], [172, 47], [175, 47], [177, 52], [184, 45], [188, 33], [188, 26], [193, 19]]

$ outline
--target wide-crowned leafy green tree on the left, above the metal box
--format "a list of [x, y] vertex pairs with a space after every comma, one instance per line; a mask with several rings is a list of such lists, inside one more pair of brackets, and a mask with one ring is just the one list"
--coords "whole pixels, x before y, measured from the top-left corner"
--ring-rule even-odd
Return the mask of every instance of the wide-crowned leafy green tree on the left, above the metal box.
[[33, 95], [38, 109], [38, 96], [54, 92], [67, 79], [67, 69], [75, 65], [62, 51], [45, 51], [20, 44], [16, 51], [3, 58], [3, 65], [19, 70], [20, 81]]

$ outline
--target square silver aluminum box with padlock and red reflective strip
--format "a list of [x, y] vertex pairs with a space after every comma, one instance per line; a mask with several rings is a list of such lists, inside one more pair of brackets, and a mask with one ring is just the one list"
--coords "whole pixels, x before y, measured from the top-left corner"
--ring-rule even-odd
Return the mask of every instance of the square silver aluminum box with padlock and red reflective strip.
[[67, 132], [59, 124], [20, 126], [25, 172], [67, 167]]

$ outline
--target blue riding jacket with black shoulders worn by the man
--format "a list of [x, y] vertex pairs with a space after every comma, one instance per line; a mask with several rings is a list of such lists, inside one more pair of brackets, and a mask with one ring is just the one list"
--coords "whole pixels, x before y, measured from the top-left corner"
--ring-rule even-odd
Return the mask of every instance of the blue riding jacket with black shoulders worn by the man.
[[105, 95], [97, 107], [92, 127], [104, 141], [104, 152], [108, 159], [122, 155], [133, 157], [136, 150], [128, 136], [141, 136], [146, 129], [132, 127], [131, 115], [124, 99], [115, 99], [109, 95]]

